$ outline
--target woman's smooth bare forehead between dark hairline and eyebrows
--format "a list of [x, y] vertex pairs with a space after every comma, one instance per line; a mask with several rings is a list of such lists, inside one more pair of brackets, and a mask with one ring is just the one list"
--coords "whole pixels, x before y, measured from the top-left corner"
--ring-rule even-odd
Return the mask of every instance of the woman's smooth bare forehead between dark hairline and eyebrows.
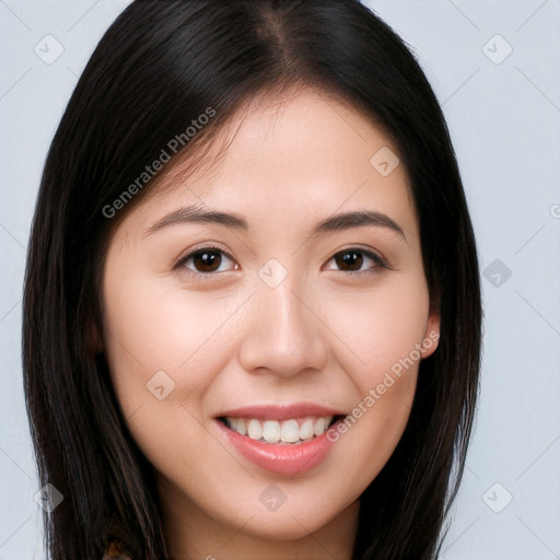
[[397, 151], [371, 119], [304, 90], [244, 106], [196, 166], [180, 156], [172, 162], [132, 214], [145, 221], [178, 205], [198, 203], [272, 223], [369, 206], [393, 212], [405, 229], [413, 229], [404, 165], [386, 174], [380, 162], [393, 167]]

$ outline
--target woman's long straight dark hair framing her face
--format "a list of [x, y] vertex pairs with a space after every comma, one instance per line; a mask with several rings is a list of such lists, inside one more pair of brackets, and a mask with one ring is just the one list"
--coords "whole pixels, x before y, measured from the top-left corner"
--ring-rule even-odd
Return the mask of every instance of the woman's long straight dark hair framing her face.
[[[119, 197], [139, 185], [171, 139], [211, 107], [213, 118], [192, 141], [183, 137], [182, 151], [192, 152], [245, 102], [293, 85], [359, 108], [389, 136], [408, 172], [441, 338], [420, 364], [397, 448], [361, 497], [353, 559], [438, 556], [475, 412], [481, 303], [455, 154], [420, 66], [358, 0], [137, 0], [106, 32], [72, 94], [31, 234], [27, 412], [40, 485], [63, 494], [45, 513], [49, 558], [97, 560], [112, 536], [135, 559], [168, 558], [153, 468], [127, 430], [104, 355], [92, 343], [92, 330], [102, 331], [101, 264], [110, 232], [151, 184]], [[117, 199], [125, 208], [107, 215]]]

